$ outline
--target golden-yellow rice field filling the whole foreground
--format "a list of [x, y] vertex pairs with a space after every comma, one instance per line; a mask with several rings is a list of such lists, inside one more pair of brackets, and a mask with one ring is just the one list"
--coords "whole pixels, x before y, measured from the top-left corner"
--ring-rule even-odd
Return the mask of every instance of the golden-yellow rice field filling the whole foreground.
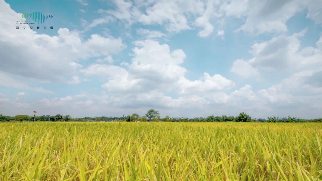
[[321, 180], [321, 123], [0, 123], [0, 180]]

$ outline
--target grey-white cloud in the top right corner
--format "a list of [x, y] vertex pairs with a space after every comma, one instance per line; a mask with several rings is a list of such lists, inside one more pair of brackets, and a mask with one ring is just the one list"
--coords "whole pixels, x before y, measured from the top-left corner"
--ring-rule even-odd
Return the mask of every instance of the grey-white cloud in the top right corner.
[[220, 12], [227, 17], [246, 18], [245, 24], [237, 29], [248, 33], [286, 32], [286, 22], [297, 12], [308, 8], [308, 18], [316, 24], [322, 23], [321, 1], [319, 0], [232, 0], [224, 2]]

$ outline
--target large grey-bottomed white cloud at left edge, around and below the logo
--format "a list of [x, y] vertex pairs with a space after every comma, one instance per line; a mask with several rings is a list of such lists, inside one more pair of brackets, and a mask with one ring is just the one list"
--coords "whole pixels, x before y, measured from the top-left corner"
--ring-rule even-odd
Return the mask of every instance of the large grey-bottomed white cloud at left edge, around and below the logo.
[[59, 29], [57, 36], [49, 36], [38, 34], [26, 25], [24, 31], [17, 33], [12, 27], [16, 26], [16, 21], [25, 19], [3, 0], [0, 4], [3, 17], [0, 20], [0, 71], [39, 80], [66, 81], [65, 76], [76, 72], [73, 62], [78, 59], [108, 56], [125, 47], [120, 38], [105, 38], [98, 34], [82, 41], [79, 32], [67, 28]]

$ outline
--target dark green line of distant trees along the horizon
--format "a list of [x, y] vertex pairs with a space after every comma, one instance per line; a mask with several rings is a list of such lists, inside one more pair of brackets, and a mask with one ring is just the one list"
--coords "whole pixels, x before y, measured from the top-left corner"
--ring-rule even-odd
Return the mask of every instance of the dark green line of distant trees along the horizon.
[[[0, 121], [33, 121], [33, 116], [16, 115], [14, 117], [4, 116], [0, 114]], [[322, 118], [318, 119], [298, 119], [288, 116], [287, 118], [268, 117], [267, 119], [252, 119], [248, 114], [241, 112], [238, 116], [208, 116], [206, 118], [160, 118], [160, 113], [156, 110], [150, 109], [144, 116], [139, 116], [137, 113], [123, 117], [84, 117], [72, 118], [70, 115], [57, 114], [56, 116], [43, 115], [35, 116], [35, 121], [166, 121], [166, 122], [322, 122]]]

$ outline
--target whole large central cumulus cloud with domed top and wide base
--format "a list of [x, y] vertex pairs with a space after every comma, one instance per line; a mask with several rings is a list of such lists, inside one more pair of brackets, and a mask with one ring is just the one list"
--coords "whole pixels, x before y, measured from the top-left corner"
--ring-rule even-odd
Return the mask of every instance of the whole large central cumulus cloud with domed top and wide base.
[[[113, 92], [105, 102], [115, 106], [202, 108], [227, 102], [229, 95], [223, 91], [232, 89], [233, 81], [222, 75], [210, 75], [205, 72], [201, 80], [185, 78], [186, 69], [181, 66], [185, 52], [171, 50], [169, 45], [155, 40], [134, 42], [131, 63], [128, 69], [109, 64], [91, 64], [81, 70], [89, 76], [105, 76], [108, 81], [102, 85], [108, 92]], [[175, 92], [177, 99], [166, 96], [164, 92]], [[120, 102], [126, 100], [126, 105]], [[117, 100], [117, 101], [115, 101]], [[115, 102], [114, 102], [115, 101]]]

